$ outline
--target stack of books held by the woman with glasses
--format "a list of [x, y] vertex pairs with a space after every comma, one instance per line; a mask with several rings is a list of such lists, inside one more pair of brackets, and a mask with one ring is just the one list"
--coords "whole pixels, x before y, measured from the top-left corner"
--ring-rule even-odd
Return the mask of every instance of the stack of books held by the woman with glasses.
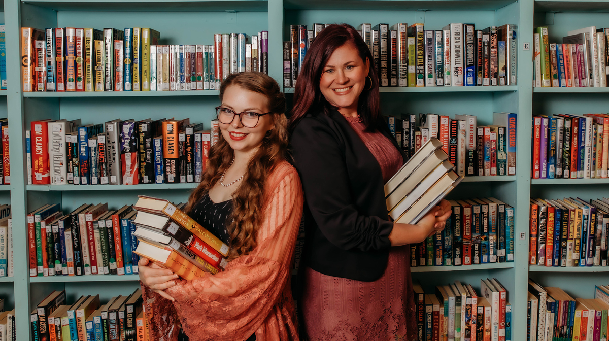
[[134, 251], [184, 279], [217, 273], [227, 265], [228, 245], [167, 200], [138, 195]]

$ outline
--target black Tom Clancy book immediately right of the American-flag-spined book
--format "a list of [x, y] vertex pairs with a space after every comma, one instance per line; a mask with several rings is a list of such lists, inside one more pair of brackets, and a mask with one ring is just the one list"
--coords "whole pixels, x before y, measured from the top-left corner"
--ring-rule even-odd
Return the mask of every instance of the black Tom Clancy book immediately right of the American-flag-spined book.
[[141, 183], [155, 182], [153, 138], [161, 135], [161, 122], [164, 120], [145, 119], [138, 122], [138, 161]]

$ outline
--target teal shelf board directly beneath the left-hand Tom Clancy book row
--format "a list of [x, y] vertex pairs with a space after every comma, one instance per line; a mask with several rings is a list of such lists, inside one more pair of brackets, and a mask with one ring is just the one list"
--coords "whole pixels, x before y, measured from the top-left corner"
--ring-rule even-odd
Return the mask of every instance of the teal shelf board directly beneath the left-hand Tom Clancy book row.
[[149, 191], [158, 189], [192, 189], [199, 183], [153, 183], [150, 185], [27, 185], [28, 191]]

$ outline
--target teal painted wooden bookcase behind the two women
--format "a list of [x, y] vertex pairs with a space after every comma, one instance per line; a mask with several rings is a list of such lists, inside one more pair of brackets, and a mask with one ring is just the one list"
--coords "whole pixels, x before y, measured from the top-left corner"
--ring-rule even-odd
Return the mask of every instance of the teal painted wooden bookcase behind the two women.
[[[118, 207], [135, 202], [137, 194], [188, 198], [193, 185], [27, 186], [24, 137], [35, 119], [76, 119], [84, 124], [115, 118], [191, 118], [209, 122], [217, 91], [151, 93], [23, 93], [19, 68], [19, 27], [152, 27], [169, 44], [211, 44], [213, 33], [269, 30], [269, 73], [281, 84], [282, 41], [290, 24], [423, 23], [441, 29], [448, 23], [476, 27], [518, 25], [518, 85], [462, 88], [382, 88], [384, 114], [476, 114], [491, 124], [493, 111], [518, 113], [518, 160], [512, 177], [467, 178], [451, 193], [455, 199], [493, 196], [516, 208], [515, 260], [502, 264], [412, 269], [424, 287], [455, 279], [479, 289], [481, 278], [495, 277], [508, 290], [512, 304], [512, 339], [526, 338], [527, 278], [545, 286], [563, 287], [576, 297], [593, 297], [594, 284], [609, 283], [609, 267], [547, 269], [529, 267], [529, 197], [607, 196], [608, 179], [530, 180], [530, 118], [533, 113], [607, 112], [609, 88], [532, 88], [533, 27], [547, 25], [551, 41], [568, 30], [609, 26], [609, 0], [4, 0], [9, 90], [0, 94], [0, 118], [10, 122], [11, 185], [2, 186], [0, 203], [13, 209], [15, 276], [0, 278], [0, 295], [16, 308], [17, 337], [30, 340], [29, 312], [51, 290], [66, 289], [69, 300], [100, 294], [102, 300], [128, 294], [137, 276], [73, 276], [30, 278], [27, 265], [26, 213], [43, 203], [62, 203], [65, 211], [82, 203], [109, 202]], [[286, 89], [288, 99], [293, 90]], [[207, 128], [207, 127], [206, 127]], [[9, 192], [10, 189], [10, 192]], [[524, 239], [520, 234], [524, 233]], [[573, 272], [578, 272], [573, 273]]]

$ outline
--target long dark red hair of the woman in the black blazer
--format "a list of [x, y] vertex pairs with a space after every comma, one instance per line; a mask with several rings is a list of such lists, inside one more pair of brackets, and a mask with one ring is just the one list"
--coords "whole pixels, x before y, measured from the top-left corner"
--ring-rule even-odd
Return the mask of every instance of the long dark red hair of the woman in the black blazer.
[[[305, 56], [302, 69], [298, 71], [298, 79], [294, 92], [294, 108], [290, 117], [290, 130], [295, 127], [298, 121], [307, 113], [318, 114], [333, 110], [333, 105], [329, 104], [319, 88], [323, 68], [328, 63], [328, 59], [334, 51], [344, 44], [353, 44], [359, 51], [362, 61], [370, 63], [368, 76], [372, 80], [370, 90], [364, 90], [359, 95], [357, 103], [357, 114], [361, 116], [366, 130], [374, 130], [376, 120], [379, 117], [379, 83], [376, 77], [376, 69], [372, 54], [364, 38], [353, 26], [347, 24], [333, 24], [320, 32], [309, 47]], [[366, 85], [367, 87], [367, 85]]]

